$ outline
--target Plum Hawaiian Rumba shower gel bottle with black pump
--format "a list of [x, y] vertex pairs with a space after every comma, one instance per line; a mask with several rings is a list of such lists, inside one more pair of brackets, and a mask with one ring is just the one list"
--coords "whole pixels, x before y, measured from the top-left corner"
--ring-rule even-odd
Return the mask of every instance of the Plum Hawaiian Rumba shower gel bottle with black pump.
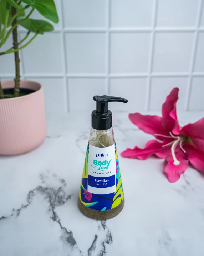
[[85, 164], [83, 168], [78, 207], [93, 219], [116, 216], [124, 206], [121, 169], [112, 127], [112, 112], [108, 102], [128, 100], [111, 96], [94, 96], [96, 110], [92, 112]]

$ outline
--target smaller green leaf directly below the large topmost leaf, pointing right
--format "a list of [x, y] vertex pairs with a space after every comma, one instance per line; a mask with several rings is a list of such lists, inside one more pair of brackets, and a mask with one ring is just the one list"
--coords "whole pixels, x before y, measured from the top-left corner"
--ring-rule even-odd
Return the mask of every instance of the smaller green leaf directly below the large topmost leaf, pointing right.
[[[18, 21], [21, 21], [23, 19], [20, 19]], [[45, 20], [34, 20], [34, 19], [27, 19], [24, 22], [20, 24], [22, 27], [26, 28], [27, 30], [30, 30], [34, 33], [39, 33], [41, 35], [44, 34], [44, 32], [50, 32], [54, 30], [54, 27], [52, 24]]]

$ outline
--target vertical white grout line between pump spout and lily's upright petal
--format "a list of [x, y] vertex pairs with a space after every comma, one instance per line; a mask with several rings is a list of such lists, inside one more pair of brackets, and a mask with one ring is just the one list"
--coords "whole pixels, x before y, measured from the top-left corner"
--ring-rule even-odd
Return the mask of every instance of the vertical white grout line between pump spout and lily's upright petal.
[[155, 26], [157, 19], [157, 1], [154, 0], [153, 11], [152, 11], [152, 32], [150, 38], [150, 52], [149, 52], [149, 61], [148, 61], [148, 77], [147, 77], [147, 92], [146, 92], [146, 107], [145, 110], [149, 111], [150, 107], [150, 93], [151, 93], [151, 73], [153, 67], [153, 58], [154, 58], [154, 40], [155, 40]]

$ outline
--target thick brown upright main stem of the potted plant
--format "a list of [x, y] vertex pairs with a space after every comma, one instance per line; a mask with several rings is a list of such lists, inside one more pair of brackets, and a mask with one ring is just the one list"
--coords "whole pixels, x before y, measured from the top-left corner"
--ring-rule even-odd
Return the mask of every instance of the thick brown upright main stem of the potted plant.
[[[16, 15], [16, 8], [14, 6], [11, 6], [11, 16], [14, 17]], [[15, 19], [12, 22], [12, 25], [14, 26], [17, 23], [17, 19]], [[15, 26], [13, 30], [13, 45], [14, 50], [17, 50], [14, 52], [15, 56], [15, 69], [16, 69], [16, 77], [14, 79], [15, 86], [14, 86], [14, 97], [19, 96], [20, 92], [20, 58], [19, 58], [19, 43], [18, 43], [18, 32], [17, 32], [17, 26]]]

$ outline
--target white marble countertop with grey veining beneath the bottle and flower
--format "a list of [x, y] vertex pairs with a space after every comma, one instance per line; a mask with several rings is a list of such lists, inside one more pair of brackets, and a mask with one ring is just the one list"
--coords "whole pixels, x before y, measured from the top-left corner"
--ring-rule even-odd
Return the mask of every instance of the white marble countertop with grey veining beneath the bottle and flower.
[[[204, 112], [179, 112], [182, 124]], [[77, 207], [90, 115], [48, 115], [36, 150], [0, 156], [1, 256], [203, 256], [204, 176], [191, 167], [176, 183], [164, 159], [119, 158], [125, 206], [107, 221]], [[114, 113], [118, 153], [152, 136]]]

